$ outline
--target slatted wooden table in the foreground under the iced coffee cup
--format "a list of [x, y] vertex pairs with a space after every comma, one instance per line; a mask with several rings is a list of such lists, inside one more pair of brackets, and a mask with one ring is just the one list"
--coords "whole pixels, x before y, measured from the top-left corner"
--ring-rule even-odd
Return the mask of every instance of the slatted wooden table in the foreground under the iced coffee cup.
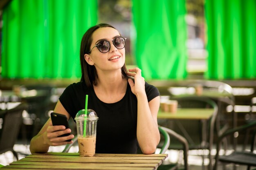
[[80, 157], [78, 153], [33, 154], [1, 168], [7, 170], [156, 170], [167, 154], [96, 154]]

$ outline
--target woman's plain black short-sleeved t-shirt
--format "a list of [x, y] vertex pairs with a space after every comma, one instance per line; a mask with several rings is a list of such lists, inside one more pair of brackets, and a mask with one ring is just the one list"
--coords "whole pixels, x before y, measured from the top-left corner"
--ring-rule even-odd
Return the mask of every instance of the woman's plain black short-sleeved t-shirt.
[[[148, 83], [145, 83], [145, 91], [148, 102], [159, 96], [158, 89]], [[137, 97], [132, 93], [130, 85], [127, 84], [126, 94], [120, 101], [107, 104], [85, 83], [71, 84], [59, 100], [73, 119], [79, 110], [85, 108], [85, 95], [88, 95], [88, 108], [94, 110], [99, 117], [95, 152], [137, 153]]]

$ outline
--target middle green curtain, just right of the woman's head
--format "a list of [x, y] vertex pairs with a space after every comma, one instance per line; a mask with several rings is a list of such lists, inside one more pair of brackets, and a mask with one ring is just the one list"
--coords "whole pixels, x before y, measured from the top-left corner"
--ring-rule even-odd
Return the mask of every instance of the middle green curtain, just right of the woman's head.
[[133, 53], [144, 78], [185, 78], [185, 0], [132, 0], [132, 14]]

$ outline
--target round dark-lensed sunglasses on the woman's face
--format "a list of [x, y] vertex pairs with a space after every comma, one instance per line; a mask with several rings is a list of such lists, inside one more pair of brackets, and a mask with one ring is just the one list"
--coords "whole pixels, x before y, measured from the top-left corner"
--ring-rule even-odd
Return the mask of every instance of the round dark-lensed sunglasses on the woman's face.
[[[110, 51], [110, 41], [113, 42], [114, 46], [117, 49], [124, 49], [125, 43], [126, 43], [126, 38], [124, 37], [116, 37], [112, 40], [102, 40], [100, 42], [98, 42], [95, 46], [97, 47], [97, 49], [101, 52], [101, 53], [108, 53], [108, 51]], [[94, 46], [94, 47], [95, 47]], [[92, 47], [92, 49], [94, 48]], [[89, 51], [88, 54], [90, 54], [90, 52], [92, 51], [92, 49]]]

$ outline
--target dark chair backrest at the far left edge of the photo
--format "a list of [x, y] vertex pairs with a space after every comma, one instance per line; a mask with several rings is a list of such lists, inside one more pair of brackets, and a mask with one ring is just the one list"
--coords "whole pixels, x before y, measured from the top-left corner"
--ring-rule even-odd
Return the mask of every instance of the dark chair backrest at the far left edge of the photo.
[[1, 110], [3, 124], [0, 134], [0, 154], [13, 150], [22, 123], [22, 112], [26, 109], [27, 104], [21, 103], [15, 108]]

